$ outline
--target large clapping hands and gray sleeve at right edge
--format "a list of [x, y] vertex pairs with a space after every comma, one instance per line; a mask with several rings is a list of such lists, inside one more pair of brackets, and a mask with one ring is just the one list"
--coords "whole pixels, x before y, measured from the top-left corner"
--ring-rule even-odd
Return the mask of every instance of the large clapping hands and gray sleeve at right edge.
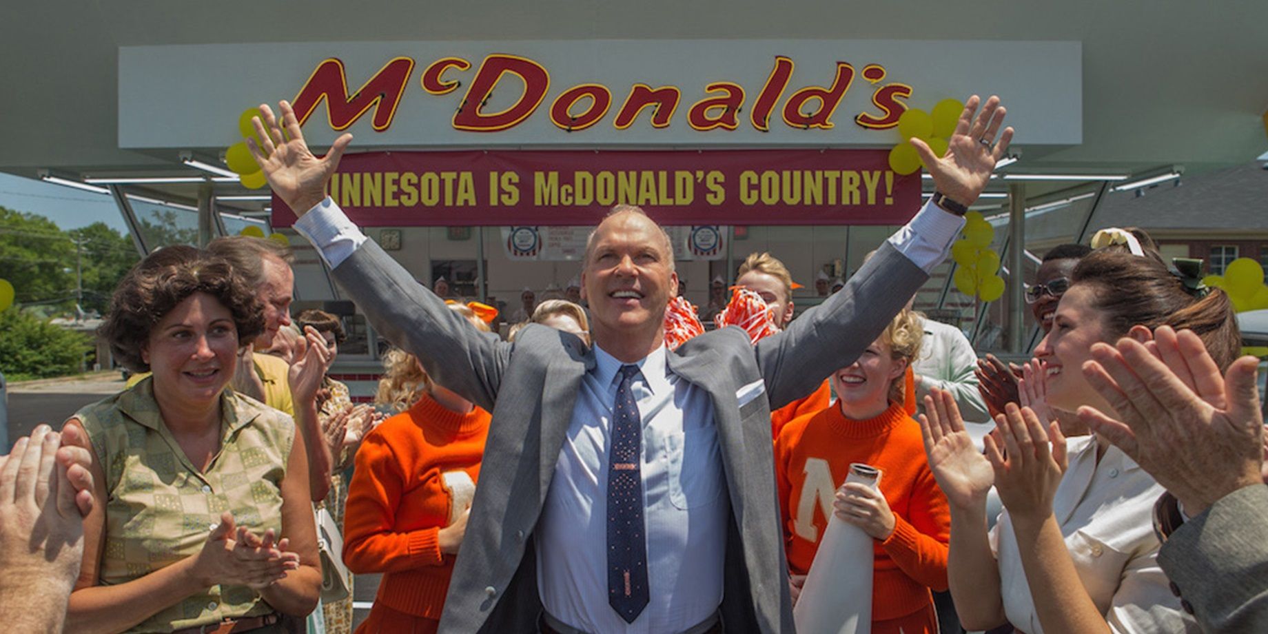
[[1118, 413], [1079, 417], [1131, 455], [1167, 495], [1158, 563], [1207, 631], [1268, 631], [1268, 486], [1254, 356], [1224, 377], [1193, 331], [1161, 327], [1151, 351], [1097, 344], [1088, 382]]

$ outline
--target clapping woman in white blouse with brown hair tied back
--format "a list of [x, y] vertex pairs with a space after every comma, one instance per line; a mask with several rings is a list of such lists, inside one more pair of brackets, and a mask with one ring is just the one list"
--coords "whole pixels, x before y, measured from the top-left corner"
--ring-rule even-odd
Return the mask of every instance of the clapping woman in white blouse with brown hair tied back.
[[[1088, 255], [1035, 351], [1041, 372], [1026, 373], [1023, 392], [1044, 394], [1058, 412], [1113, 411], [1082, 372], [1092, 346], [1123, 336], [1146, 341], [1160, 326], [1193, 330], [1221, 368], [1240, 350], [1222, 290], [1198, 289], [1156, 257], [1110, 249]], [[926, 451], [951, 507], [951, 593], [966, 629], [1197, 631], [1156, 562], [1153, 506], [1163, 489], [1126, 454], [1096, 435], [1066, 441], [1055, 422], [1013, 404], [995, 418], [998, 435], [988, 436], [984, 456], [954, 401], [936, 394], [926, 404]], [[992, 484], [1004, 512], [988, 533]]]

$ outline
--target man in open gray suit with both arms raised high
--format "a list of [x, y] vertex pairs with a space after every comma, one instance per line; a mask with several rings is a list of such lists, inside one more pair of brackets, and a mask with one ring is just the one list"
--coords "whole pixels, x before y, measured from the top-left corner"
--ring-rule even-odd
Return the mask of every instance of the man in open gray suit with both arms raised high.
[[913, 139], [938, 194], [844, 292], [756, 347], [723, 328], [673, 353], [673, 255], [640, 209], [587, 242], [595, 346], [535, 326], [512, 346], [366, 241], [325, 195], [351, 137], [317, 158], [280, 105], [280, 122], [261, 107], [252, 151], [295, 230], [379, 332], [493, 412], [441, 630], [791, 631], [770, 411], [851, 363], [946, 257], [1012, 138], [999, 99], [969, 99], [945, 157]]

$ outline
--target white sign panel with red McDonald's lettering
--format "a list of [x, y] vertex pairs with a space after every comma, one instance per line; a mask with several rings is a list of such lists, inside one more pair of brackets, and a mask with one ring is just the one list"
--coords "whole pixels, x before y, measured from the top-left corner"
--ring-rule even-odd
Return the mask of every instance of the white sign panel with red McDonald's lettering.
[[119, 146], [223, 148], [293, 100], [317, 145], [891, 146], [908, 108], [998, 94], [1017, 142], [1075, 145], [1079, 42], [524, 41], [122, 47]]

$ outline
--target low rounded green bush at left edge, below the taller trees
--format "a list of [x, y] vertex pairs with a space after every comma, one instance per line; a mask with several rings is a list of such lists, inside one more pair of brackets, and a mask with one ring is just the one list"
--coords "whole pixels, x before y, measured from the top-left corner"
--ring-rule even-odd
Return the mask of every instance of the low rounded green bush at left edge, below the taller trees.
[[16, 307], [0, 312], [0, 372], [9, 380], [75, 374], [91, 350], [86, 333], [53, 326]]

